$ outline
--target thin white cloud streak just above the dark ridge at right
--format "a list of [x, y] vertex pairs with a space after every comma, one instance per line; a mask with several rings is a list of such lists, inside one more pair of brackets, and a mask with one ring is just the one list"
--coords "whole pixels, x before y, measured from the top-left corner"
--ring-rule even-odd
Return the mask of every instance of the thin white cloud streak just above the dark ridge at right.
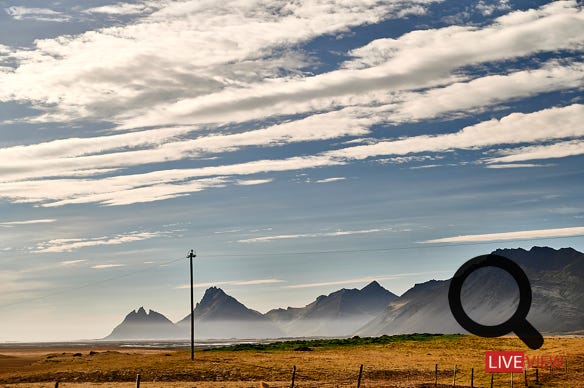
[[464, 236], [445, 237], [434, 240], [423, 241], [425, 244], [431, 243], [462, 243], [462, 242], [484, 242], [484, 241], [504, 241], [504, 240], [526, 240], [543, 239], [555, 237], [584, 236], [584, 226], [573, 228], [522, 230], [517, 232], [470, 234]]

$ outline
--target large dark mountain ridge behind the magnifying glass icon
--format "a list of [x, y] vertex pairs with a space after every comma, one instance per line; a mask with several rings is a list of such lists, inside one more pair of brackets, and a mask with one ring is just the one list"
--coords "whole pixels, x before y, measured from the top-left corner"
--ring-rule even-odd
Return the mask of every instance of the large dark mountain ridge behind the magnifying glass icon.
[[[517, 262], [530, 279], [533, 301], [527, 319], [539, 331], [568, 333], [584, 330], [584, 254], [572, 248], [540, 247], [529, 251], [500, 249], [493, 253]], [[449, 286], [449, 280], [416, 284], [356, 333], [465, 332], [450, 312]], [[495, 325], [515, 311], [517, 286], [505, 272], [484, 268], [467, 278], [462, 301], [472, 319]]]

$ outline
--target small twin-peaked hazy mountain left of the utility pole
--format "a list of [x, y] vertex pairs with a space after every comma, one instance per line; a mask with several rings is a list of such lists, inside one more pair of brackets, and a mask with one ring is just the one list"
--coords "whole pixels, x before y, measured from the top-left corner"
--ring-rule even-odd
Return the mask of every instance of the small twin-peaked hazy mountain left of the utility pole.
[[106, 340], [174, 339], [179, 333], [164, 315], [144, 307], [130, 312], [126, 318], [108, 335]]

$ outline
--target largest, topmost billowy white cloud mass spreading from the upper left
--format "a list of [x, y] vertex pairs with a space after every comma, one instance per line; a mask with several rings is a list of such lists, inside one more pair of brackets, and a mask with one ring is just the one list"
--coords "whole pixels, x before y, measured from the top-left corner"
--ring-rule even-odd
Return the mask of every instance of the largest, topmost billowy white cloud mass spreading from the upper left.
[[[516, 11], [515, 22], [497, 19], [481, 29], [447, 27], [377, 40], [354, 50], [355, 60], [347, 64], [352, 68], [282, 77], [275, 47], [377, 22], [402, 7], [360, 1], [168, 3], [135, 25], [43, 40], [37, 50], [16, 53], [20, 66], [0, 79], [0, 98], [39, 102], [40, 109], [58, 102], [46, 119], [105, 117], [125, 127], [245, 121], [330, 109], [337, 99], [346, 104], [347, 96], [376, 90], [444, 83], [462, 66], [581, 43], [582, 12], [576, 2], [565, 2]], [[100, 58], [108, 58], [107, 65]], [[290, 70], [305, 65], [286, 63]]]

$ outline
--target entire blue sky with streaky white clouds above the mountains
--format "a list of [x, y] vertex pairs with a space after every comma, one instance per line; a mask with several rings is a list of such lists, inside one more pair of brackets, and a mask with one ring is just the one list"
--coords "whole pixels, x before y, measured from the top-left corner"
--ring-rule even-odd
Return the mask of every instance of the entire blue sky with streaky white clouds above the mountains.
[[0, 342], [584, 251], [577, 1], [0, 0]]

